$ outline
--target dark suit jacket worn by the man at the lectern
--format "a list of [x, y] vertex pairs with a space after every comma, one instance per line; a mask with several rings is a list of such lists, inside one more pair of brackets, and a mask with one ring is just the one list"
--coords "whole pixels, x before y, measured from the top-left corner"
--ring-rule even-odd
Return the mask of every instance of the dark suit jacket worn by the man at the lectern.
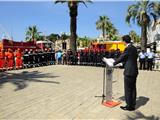
[[137, 58], [138, 53], [136, 47], [129, 44], [124, 50], [124, 53], [114, 62], [114, 65], [123, 62], [124, 75], [136, 77], [138, 75]]

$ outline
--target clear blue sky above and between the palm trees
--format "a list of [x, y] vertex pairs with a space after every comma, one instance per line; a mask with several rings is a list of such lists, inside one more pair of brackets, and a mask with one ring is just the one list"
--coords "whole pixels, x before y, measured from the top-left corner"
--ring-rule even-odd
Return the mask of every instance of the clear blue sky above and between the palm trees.
[[[96, 29], [99, 16], [106, 15], [118, 29], [120, 35], [131, 30], [140, 34], [136, 24], [125, 22], [127, 8], [134, 1], [94, 1], [87, 7], [79, 4], [77, 35], [97, 38], [102, 32]], [[54, 4], [53, 1], [1, 1], [0, 38], [6, 34], [15, 41], [24, 41], [27, 27], [36, 25], [44, 35], [70, 33], [70, 17], [67, 4]]]

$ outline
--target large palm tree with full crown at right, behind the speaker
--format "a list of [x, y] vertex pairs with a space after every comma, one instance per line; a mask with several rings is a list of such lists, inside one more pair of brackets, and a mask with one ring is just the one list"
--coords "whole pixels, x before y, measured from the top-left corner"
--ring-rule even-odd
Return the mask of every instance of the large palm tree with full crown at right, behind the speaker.
[[158, 19], [160, 15], [160, 2], [150, 2], [149, 0], [138, 1], [136, 4], [130, 5], [127, 10], [126, 22], [129, 24], [132, 20], [137, 22], [141, 27], [141, 49], [146, 50], [147, 47], [147, 27], [150, 21]]

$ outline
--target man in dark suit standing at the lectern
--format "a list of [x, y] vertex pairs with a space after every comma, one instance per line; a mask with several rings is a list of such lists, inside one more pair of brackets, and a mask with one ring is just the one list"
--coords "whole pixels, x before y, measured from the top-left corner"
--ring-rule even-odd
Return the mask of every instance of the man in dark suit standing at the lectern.
[[124, 89], [126, 106], [121, 106], [123, 110], [133, 111], [136, 105], [136, 79], [138, 75], [137, 58], [138, 53], [136, 47], [131, 43], [129, 35], [122, 37], [123, 41], [127, 44], [124, 53], [115, 60], [114, 65], [124, 63]]

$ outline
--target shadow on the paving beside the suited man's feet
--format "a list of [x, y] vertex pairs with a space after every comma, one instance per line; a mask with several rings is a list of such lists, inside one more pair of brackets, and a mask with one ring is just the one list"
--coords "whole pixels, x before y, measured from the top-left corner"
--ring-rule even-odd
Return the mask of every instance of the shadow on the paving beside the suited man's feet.
[[[122, 101], [125, 101], [124, 96], [120, 97], [119, 99]], [[136, 100], [136, 109], [140, 108], [141, 106], [144, 106], [145, 104], [147, 104], [148, 101], [149, 101], [149, 98], [144, 96], [139, 96]]]

